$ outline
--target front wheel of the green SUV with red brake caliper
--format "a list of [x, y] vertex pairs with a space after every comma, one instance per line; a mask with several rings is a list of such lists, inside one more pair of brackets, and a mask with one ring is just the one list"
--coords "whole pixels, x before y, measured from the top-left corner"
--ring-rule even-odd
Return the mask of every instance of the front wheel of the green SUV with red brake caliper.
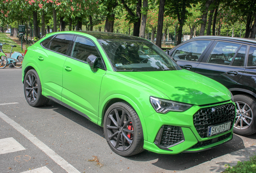
[[118, 155], [127, 157], [144, 151], [140, 119], [128, 103], [111, 105], [105, 113], [103, 127], [109, 147]]

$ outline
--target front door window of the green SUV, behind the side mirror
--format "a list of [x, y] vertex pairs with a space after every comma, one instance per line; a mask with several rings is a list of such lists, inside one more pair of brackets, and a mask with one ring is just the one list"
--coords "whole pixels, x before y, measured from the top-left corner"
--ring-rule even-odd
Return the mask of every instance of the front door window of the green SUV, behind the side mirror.
[[91, 54], [101, 58], [95, 44], [91, 40], [77, 36], [71, 57], [86, 62], [87, 57]]

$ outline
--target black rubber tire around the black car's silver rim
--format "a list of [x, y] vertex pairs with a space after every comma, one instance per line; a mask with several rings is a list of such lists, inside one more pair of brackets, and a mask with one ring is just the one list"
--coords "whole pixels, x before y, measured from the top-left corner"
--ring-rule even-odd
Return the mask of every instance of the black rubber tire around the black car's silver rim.
[[252, 109], [253, 119], [252, 124], [248, 128], [239, 130], [233, 127], [233, 131], [237, 135], [252, 135], [253, 133], [256, 132], [256, 104], [254, 103], [255, 99], [252, 99], [247, 95], [234, 95], [234, 102], [237, 101], [241, 101], [249, 105], [249, 107]]

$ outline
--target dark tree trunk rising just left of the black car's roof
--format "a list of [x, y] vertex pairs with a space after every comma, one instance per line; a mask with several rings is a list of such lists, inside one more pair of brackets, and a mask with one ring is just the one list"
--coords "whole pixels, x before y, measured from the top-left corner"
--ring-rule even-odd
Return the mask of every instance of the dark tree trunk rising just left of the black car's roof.
[[159, 1], [159, 12], [158, 12], [158, 22], [157, 22], [157, 40], [155, 44], [161, 48], [162, 47], [162, 34], [163, 34], [163, 13], [165, 11], [165, 0]]

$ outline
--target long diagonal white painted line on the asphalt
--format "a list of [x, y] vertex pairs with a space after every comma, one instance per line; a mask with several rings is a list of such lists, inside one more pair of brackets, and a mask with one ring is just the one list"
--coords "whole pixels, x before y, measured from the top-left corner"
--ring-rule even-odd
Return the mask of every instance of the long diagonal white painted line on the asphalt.
[[[47, 145], [45, 145], [42, 141], [37, 139], [34, 135], [29, 133], [26, 129], [21, 127], [18, 123], [4, 115], [0, 111], [0, 117], [10, 124], [14, 129], [19, 131], [22, 135], [24, 135], [29, 141], [35, 144], [39, 149], [41, 149], [45, 154], [47, 154], [53, 161], [55, 161], [58, 165], [60, 165], [63, 169], [65, 169], [68, 173], [80, 173], [76, 168], [70, 165], [67, 161], [65, 161], [62, 157], [60, 157], [57, 153], [55, 153], [52, 149], [50, 149]], [[27, 172], [26, 172], [27, 173]], [[30, 173], [30, 172], [28, 172]], [[34, 172], [32, 172], [34, 173]]]

